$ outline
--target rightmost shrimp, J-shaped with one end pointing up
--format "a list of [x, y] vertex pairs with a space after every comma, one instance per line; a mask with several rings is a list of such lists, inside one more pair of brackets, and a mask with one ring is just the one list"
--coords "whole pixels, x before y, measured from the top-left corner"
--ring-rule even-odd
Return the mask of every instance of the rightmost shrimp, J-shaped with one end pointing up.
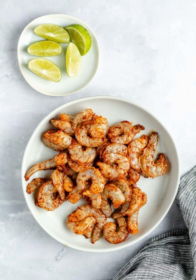
[[143, 154], [139, 157], [142, 175], [145, 177], [155, 178], [157, 176], [164, 175], [167, 172], [168, 164], [164, 154], [159, 154], [156, 162], [153, 161], [158, 139], [158, 133], [153, 132], [147, 147], [144, 149]]

